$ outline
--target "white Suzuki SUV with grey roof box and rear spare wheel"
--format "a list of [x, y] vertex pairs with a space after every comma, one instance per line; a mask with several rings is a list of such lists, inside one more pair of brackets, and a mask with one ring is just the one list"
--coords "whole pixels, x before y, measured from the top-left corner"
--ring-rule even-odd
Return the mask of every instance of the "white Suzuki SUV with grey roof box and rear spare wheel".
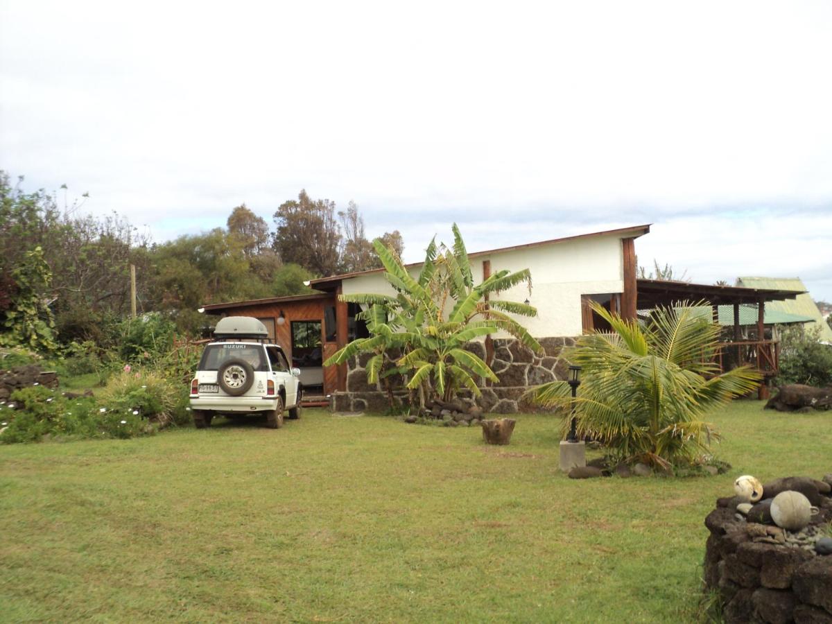
[[230, 418], [264, 415], [267, 426], [283, 426], [283, 410], [300, 418], [300, 369], [290, 369], [283, 349], [269, 342], [265, 325], [248, 316], [220, 319], [191, 381], [196, 428], [215, 414]]

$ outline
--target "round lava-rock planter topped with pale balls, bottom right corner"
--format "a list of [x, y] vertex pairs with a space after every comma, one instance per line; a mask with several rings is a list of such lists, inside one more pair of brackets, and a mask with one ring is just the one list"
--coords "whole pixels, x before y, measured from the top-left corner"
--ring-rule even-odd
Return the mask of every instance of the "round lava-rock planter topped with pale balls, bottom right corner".
[[[832, 624], [832, 474], [765, 485], [740, 477], [735, 491], [705, 519], [705, 586], [719, 597], [725, 622]], [[787, 518], [784, 502], [795, 501], [805, 505], [799, 512], [810, 511]]]

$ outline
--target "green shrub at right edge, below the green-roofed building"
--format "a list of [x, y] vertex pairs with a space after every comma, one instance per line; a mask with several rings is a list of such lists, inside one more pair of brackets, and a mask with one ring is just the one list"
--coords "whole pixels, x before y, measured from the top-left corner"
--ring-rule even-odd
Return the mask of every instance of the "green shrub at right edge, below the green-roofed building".
[[820, 342], [820, 329], [790, 327], [780, 334], [778, 384], [832, 385], [832, 346]]

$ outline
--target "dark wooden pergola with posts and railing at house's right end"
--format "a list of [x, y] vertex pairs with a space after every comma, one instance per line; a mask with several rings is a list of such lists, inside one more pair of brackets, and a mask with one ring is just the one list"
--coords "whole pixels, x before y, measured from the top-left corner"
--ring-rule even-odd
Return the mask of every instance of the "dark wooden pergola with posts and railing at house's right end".
[[[736, 364], [752, 364], [764, 375], [765, 381], [760, 385], [759, 397], [768, 396], [768, 381], [779, 371], [780, 344], [776, 340], [765, 339], [765, 303], [795, 299], [802, 295], [802, 290], [772, 290], [762, 288], [742, 288], [740, 286], [716, 286], [708, 284], [690, 284], [688, 282], [664, 280], [636, 280], [636, 307], [638, 310], [652, 310], [657, 307], [690, 304], [706, 301], [713, 310], [714, 322], [719, 321], [719, 306], [732, 305], [734, 308], [734, 339], [720, 344], [716, 354], [717, 364], [724, 369], [725, 355], [728, 349], [735, 354]], [[740, 332], [740, 305], [757, 307], [756, 340], [742, 340]]]

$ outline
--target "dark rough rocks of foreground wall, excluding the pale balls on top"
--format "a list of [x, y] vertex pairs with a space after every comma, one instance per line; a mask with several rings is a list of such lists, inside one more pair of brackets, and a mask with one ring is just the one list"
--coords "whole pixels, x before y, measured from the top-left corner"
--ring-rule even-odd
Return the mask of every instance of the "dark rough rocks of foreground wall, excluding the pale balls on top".
[[832, 495], [825, 490], [816, 502], [810, 526], [790, 532], [746, 521], [735, 498], [717, 501], [705, 520], [705, 586], [717, 593], [727, 624], [832, 624], [832, 554], [815, 551], [832, 520]]

